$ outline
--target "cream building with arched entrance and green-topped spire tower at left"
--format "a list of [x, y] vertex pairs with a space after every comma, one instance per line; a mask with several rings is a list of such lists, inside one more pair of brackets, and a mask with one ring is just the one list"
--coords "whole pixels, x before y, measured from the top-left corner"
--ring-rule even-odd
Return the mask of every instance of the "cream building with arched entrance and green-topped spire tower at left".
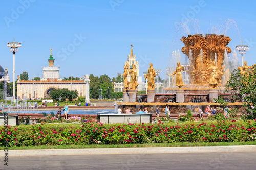
[[81, 80], [62, 80], [59, 78], [60, 67], [54, 66], [52, 52], [48, 59], [49, 66], [42, 67], [43, 78], [41, 80], [18, 80], [17, 96], [18, 98], [47, 98], [49, 92], [53, 89], [67, 88], [76, 90], [78, 96], [85, 96], [86, 102], [89, 102], [89, 75], [84, 75]]

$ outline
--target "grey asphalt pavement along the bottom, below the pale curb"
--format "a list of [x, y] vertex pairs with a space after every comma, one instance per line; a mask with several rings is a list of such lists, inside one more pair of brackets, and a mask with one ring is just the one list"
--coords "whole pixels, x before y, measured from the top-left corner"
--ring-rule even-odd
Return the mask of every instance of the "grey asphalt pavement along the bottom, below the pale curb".
[[9, 157], [8, 166], [0, 169], [253, 169], [256, 152], [166, 153], [120, 155], [61, 155]]

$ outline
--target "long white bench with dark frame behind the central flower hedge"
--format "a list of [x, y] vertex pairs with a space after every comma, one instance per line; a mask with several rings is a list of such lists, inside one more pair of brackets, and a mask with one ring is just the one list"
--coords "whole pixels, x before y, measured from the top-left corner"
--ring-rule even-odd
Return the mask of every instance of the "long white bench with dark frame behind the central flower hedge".
[[151, 123], [151, 114], [97, 114], [98, 122], [102, 123]]

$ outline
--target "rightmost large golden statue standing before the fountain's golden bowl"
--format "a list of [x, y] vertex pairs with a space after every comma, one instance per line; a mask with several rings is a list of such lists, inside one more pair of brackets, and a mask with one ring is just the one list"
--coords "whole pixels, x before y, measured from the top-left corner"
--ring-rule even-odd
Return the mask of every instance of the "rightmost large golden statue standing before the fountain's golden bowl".
[[206, 71], [209, 70], [211, 72], [209, 86], [211, 88], [216, 88], [218, 84], [221, 83], [221, 77], [224, 72], [221, 72], [216, 66], [216, 61], [212, 62], [212, 64], [213, 66], [211, 66], [210, 68], [208, 68], [208, 63], [206, 64]]

